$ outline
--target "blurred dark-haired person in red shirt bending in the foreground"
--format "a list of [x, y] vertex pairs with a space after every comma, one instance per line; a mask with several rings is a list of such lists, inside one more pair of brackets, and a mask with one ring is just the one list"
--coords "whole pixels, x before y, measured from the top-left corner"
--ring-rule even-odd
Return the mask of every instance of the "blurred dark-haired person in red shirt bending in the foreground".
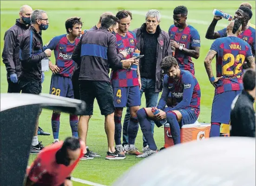
[[85, 149], [85, 143], [74, 137], [43, 149], [27, 169], [25, 186], [72, 186], [70, 175]]

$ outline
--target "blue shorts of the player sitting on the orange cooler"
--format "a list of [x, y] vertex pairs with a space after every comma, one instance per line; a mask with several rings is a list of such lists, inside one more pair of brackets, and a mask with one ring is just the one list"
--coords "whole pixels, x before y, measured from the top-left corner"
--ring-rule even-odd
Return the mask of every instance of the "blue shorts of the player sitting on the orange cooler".
[[[171, 112], [170, 109], [171, 107], [165, 107], [164, 112], [168, 114], [168, 112]], [[198, 109], [188, 107], [185, 109], [177, 109], [176, 111], [179, 111], [182, 115], [180, 127], [182, 127], [184, 124], [194, 124], [197, 121], [199, 114]]]

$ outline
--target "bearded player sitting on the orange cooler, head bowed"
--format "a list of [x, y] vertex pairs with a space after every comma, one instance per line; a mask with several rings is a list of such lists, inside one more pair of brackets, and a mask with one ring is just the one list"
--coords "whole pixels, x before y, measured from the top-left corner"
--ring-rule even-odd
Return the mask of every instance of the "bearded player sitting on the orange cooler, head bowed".
[[[180, 70], [176, 59], [172, 56], [164, 57], [160, 64], [164, 70], [163, 93], [158, 103], [160, 112], [154, 115], [151, 108], [138, 110], [137, 116], [143, 135], [149, 149], [136, 157], [147, 157], [158, 151], [151, 132], [150, 120], [159, 124], [160, 120], [166, 119], [170, 124], [171, 135], [174, 144], [180, 143], [180, 128], [184, 124], [193, 124], [197, 121], [200, 113], [200, 87], [197, 79], [189, 71]], [[171, 100], [171, 105], [167, 101]], [[159, 125], [158, 125], [159, 126]]]

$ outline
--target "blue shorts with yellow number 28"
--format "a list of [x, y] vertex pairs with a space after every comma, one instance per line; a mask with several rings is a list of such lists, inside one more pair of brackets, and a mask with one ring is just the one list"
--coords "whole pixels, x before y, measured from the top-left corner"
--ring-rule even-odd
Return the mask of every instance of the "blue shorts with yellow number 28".
[[50, 86], [50, 94], [66, 98], [74, 98], [71, 78], [53, 74]]

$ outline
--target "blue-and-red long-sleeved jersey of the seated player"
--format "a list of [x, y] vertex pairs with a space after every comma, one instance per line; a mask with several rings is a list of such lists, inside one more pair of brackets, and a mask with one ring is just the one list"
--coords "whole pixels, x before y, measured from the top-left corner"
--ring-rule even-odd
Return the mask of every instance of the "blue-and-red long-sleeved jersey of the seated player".
[[167, 105], [172, 107], [170, 111], [192, 107], [198, 117], [200, 99], [201, 90], [196, 77], [187, 70], [180, 70], [180, 77], [177, 79], [164, 75], [163, 93], [157, 107], [163, 110]]

